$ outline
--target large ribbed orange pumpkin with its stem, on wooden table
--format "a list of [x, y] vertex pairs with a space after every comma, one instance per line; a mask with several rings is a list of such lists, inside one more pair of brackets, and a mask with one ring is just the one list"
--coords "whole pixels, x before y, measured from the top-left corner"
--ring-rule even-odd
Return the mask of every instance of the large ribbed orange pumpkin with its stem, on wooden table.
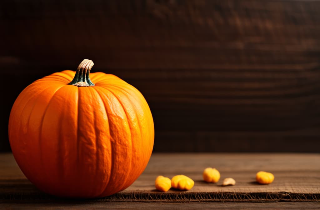
[[[143, 95], [119, 77], [90, 73], [85, 59], [27, 86], [12, 106], [9, 141], [38, 189], [95, 198], [129, 187], [152, 153], [154, 124]], [[71, 82], [70, 82], [71, 81]]]

